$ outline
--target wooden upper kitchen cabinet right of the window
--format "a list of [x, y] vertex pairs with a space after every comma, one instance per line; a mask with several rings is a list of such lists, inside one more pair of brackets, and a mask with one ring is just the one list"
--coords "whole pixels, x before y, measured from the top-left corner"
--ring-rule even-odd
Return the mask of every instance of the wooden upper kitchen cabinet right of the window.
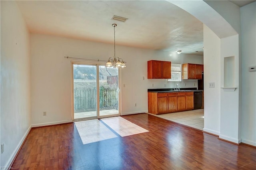
[[202, 79], [202, 64], [182, 64], [182, 79]]

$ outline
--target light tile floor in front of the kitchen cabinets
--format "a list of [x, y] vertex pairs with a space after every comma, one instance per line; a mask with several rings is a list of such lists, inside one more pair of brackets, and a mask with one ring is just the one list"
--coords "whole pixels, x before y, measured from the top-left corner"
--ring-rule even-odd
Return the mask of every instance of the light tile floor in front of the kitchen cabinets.
[[[148, 113], [148, 114], [153, 115], [151, 113]], [[154, 116], [161, 117], [163, 119], [167, 119], [169, 121], [187, 125], [193, 128], [198, 128], [200, 130], [203, 130], [204, 128], [204, 109], [197, 109], [192, 111], [184, 111], [184, 112], [176, 112], [176, 113], [167, 113], [163, 115], [154, 115]]]

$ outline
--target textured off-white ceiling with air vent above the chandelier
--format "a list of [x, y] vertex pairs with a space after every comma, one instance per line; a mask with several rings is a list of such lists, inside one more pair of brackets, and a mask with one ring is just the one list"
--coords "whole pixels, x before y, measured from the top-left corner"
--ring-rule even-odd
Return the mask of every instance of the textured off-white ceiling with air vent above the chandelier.
[[[32, 33], [203, 55], [203, 24], [166, 1], [17, 1]], [[113, 15], [128, 18], [111, 20]], [[195, 52], [200, 51], [200, 52]]]

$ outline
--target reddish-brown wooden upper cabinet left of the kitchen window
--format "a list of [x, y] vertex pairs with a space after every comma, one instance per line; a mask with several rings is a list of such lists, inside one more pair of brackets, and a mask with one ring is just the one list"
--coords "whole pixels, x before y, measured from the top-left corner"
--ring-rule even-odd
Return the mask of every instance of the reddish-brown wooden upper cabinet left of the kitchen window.
[[170, 79], [171, 62], [170, 61], [148, 61], [148, 79]]

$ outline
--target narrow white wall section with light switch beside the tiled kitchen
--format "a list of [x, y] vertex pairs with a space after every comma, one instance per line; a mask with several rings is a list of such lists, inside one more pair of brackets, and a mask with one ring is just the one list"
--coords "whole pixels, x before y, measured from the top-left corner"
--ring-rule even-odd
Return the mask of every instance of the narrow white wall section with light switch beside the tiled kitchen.
[[[209, 88], [214, 83], [214, 88]], [[204, 25], [204, 131], [220, 133], [220, 38]]]

